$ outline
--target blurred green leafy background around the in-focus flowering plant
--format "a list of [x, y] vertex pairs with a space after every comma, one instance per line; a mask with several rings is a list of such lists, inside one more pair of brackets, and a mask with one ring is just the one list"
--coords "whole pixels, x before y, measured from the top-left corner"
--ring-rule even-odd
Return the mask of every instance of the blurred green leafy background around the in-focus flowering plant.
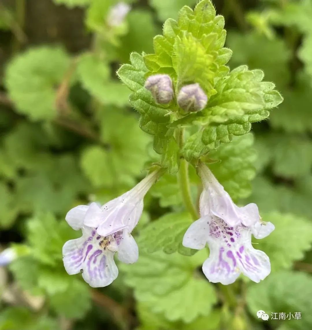
[[[79, 236], [66, 213], [130, 189], [157, 158], [115, 71], [130, 52], [153, 52], [163, 22], [196, 4], [125, 2], [132, 9], [117, 27], [108, 24], [115, 0], [0, 2], [0, 243], [1, 249], [13, 244], [18, 254], [0, 268], [0, 330], [311, 329], [310, 0], [214, 1], [225, 16], [231, 69], [264, 70], [284, 97], [269, 120], [253, 125], [258, 158], [252, 152], [249, 160], [257, 174], [252, 191], [233, 196], [257, 203], [275, 224], [255, 242], [272, 262], [265, 281], [209, 284], [201, 252], [140, 252], [133, 268], [120, 265], [117, 280], [98, 290], [66, 274], [62, 246]], [[137, 233], [183, 210], [175, 179], [165, 176], [144, 205]], [[259, 321], [258, 310], [269, 320]], [[271, 319], [296, 312], [300, 319]]]

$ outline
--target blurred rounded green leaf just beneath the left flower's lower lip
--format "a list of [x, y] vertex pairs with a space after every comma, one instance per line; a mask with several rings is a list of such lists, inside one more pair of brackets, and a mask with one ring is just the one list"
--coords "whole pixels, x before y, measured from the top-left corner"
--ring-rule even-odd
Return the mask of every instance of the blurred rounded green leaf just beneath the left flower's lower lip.
[[72, 281], [65, 292], [50, 296], [50, 306], [55, 313], [66, 318], [84, 318], [91, 308], [88, 285], [82, 281]]

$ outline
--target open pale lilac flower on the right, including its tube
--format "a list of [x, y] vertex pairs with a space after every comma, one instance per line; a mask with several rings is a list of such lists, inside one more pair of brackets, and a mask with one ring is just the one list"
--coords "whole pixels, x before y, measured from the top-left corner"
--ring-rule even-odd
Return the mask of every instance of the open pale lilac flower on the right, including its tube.
[[203, 181], [200, 198], [201, 218], [191, 224], [183, 237], [183, 246], [202, 249], [208, 243], [210, 254], [203, 273], [213, 283], [233, 283], [240, 273], [259, 282], [270, 273], [269, 257], [251, 245], [251, 234], [262, 239], [273, 230], [271, 222], [261, 221], [256, 204], [234, 204], [211, 171], [200, 164]]

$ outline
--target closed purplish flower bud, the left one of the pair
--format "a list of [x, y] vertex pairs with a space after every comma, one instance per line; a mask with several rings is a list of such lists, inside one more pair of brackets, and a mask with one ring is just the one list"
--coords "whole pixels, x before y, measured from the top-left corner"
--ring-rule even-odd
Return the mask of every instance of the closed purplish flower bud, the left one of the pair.
[[154, 75], [146, 79], [148, 89], [157, 103], [169, 103], [173, 98], [172, 81], [168, 75]]

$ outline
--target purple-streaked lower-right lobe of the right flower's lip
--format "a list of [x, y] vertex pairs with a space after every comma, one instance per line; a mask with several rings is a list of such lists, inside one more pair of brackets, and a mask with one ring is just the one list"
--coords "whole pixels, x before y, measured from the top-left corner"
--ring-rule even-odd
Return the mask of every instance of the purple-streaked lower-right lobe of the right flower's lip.
[[261, 250], [256, 250], [251, 244], [240, 247], [238, 267], [241, 272], [254, 282], [264, 280], [271, 272], [269, 257]]

